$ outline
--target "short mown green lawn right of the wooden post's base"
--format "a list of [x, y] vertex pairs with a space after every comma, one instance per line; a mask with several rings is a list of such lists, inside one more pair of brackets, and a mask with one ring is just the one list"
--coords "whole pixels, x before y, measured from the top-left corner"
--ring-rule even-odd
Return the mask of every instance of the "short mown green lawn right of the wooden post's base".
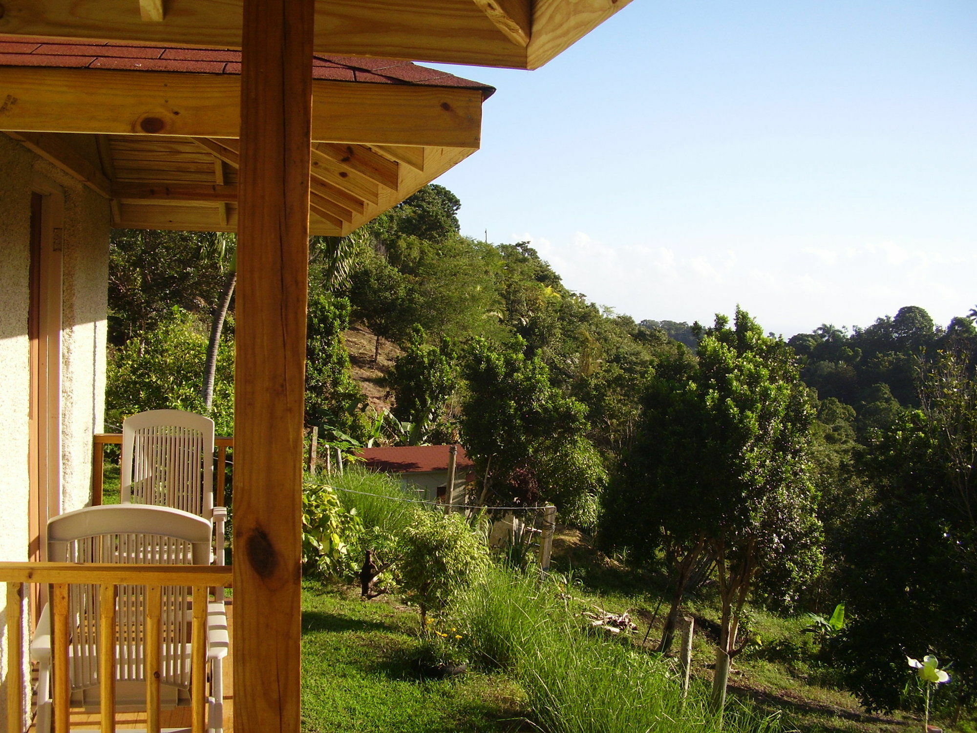
[[308, 581], [302, 607], [307, 733], [535, 730], [523, 716], [521, 690], [502, 674], [420, 677], [415, 612]]

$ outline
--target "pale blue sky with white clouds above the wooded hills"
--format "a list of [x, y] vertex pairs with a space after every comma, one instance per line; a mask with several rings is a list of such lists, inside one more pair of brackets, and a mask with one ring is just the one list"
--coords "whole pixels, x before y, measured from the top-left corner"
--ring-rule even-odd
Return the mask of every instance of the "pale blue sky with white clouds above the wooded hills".
[[789, 336], [977, 304], [977, 2], [633, 0], [497, 87], [443, 176], [637, 320], [737, 303]]

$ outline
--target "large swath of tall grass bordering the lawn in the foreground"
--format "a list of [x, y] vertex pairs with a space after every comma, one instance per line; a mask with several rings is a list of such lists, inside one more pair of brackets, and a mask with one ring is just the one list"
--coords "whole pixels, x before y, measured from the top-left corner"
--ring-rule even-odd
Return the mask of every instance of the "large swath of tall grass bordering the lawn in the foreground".
[[[621, 639], [588, 633], [567, 588], [493, 567], [459, 594], [452, 618], [476, 662], [510, 671], [552, 733], [717, 731], [708, 690], [682, 700], [677, 670]], [[733, 705], [722, 727], [763, 731], [776, 721]]]

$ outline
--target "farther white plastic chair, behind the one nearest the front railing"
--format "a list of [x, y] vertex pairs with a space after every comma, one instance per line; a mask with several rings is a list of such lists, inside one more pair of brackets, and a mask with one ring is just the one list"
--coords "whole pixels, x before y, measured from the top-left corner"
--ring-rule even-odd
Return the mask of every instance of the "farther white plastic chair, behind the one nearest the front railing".
[[122, 421], [122, 503], [169, 506], [214, 525], [214, 564], [224, 565], [228, 510], [214, 506], [214, 421], [184, 410], [149, 410]]

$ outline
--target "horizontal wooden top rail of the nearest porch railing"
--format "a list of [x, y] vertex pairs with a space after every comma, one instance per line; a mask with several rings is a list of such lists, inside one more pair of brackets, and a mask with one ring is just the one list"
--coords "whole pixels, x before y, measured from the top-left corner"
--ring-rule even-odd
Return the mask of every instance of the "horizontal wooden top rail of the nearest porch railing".
[[0, 562], [0, 582], [231, 587], [230, 565]]

